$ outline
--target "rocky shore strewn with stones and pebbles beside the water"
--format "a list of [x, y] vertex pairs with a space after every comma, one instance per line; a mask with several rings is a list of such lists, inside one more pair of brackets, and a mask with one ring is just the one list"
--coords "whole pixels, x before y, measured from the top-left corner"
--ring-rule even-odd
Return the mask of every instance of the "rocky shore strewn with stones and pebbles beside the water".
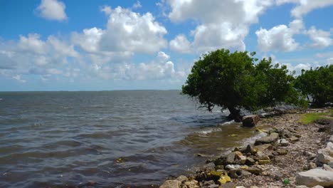
[[292, 110], [260, 120], [251, 117], [249, 126], [256, 124], [265, 137], [207, 160], [194, 175], [168, 179], [160, 187], [333, 187], [332, 117], [300, 122], [300, 114], [314, 112], [327, 110]]

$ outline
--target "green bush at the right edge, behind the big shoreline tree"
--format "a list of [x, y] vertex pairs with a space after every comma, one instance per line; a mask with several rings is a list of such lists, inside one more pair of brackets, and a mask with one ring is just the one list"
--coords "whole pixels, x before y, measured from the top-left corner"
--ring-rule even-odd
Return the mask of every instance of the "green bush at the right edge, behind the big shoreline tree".
[[295, 87], [307, 99], [312, 98], [312, 105], [322, 107], [325, 103], [333, 103], [333, 65], [302, 70], [295, 80]]

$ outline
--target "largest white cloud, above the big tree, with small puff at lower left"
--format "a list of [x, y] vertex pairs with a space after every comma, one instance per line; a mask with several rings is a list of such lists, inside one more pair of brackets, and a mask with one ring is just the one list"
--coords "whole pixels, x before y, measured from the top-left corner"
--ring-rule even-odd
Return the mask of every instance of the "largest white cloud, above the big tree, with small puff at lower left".
[[[258, 16], [273, 6], [273, 1], [168, 1], [171, 11], [169, 19], [173, 22], [194, 20], [198, 26], [191, 31], [194, 41], [191, 46], [196, 52], [212, 51], [216, 48], [245, 50], [243, 42], [252, 23], [258, 22]], [[174, 51], [184, 52], [177, 46], [186, 38], [176, 36], [172, 40]]]

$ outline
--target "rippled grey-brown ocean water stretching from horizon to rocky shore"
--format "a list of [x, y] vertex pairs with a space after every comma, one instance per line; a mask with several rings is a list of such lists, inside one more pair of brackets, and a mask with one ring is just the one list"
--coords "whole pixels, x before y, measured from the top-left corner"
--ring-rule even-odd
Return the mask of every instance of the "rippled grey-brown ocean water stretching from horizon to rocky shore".
[[0, 93], [0, 187], [149, 187], [258, 136], [179, 93]]

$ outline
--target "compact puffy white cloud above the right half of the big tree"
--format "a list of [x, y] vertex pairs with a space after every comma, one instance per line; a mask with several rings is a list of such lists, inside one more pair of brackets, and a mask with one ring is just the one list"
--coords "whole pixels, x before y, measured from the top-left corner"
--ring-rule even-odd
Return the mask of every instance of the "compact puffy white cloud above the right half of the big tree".
[[292, 21], [288, 26], [279, 25], [270, 28], [260, 28], [255, 31], [258, 36], [260, 51], [295, 51], [300, 44], [295, 41], [293, 35], [300, 33], [304, 28], [301, 20]]

